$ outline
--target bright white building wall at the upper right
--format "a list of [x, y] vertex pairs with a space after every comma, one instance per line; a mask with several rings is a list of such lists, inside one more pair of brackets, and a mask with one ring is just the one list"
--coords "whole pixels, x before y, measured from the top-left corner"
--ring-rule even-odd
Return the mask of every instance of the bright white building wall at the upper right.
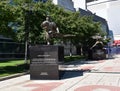
[[114, 40], [120, 40], [120, 0], [98, 0], [87, 4], [87, 9], [105, 18]]

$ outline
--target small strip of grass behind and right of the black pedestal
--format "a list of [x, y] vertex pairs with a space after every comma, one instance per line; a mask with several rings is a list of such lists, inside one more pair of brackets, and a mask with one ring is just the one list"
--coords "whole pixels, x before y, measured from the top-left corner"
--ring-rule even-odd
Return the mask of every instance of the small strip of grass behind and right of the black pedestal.
[[76, 61], [84, 58], [85, 58], [84, 56], [80, 56], [80, 55], [65, 56], [64, 62], [71, 62], [71, 61]]

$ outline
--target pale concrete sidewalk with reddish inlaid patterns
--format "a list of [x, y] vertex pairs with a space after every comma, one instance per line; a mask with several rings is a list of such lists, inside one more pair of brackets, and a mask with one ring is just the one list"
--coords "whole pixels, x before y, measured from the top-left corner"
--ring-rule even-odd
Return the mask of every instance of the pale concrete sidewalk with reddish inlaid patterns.
[[60, 80], [30, 80], [24, 75], [0, 82], [0, 91], [120, 91], [120, 55], [113, 59], [60, 65]]

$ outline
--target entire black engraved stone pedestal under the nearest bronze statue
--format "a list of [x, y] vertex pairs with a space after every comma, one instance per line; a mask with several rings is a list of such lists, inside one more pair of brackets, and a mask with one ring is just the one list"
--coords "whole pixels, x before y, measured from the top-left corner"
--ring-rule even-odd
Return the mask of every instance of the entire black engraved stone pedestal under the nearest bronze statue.
[[64, 48], [55, 45], [30, 47], [30, 79], [59, 79], [58, 65], [64, 60]]

